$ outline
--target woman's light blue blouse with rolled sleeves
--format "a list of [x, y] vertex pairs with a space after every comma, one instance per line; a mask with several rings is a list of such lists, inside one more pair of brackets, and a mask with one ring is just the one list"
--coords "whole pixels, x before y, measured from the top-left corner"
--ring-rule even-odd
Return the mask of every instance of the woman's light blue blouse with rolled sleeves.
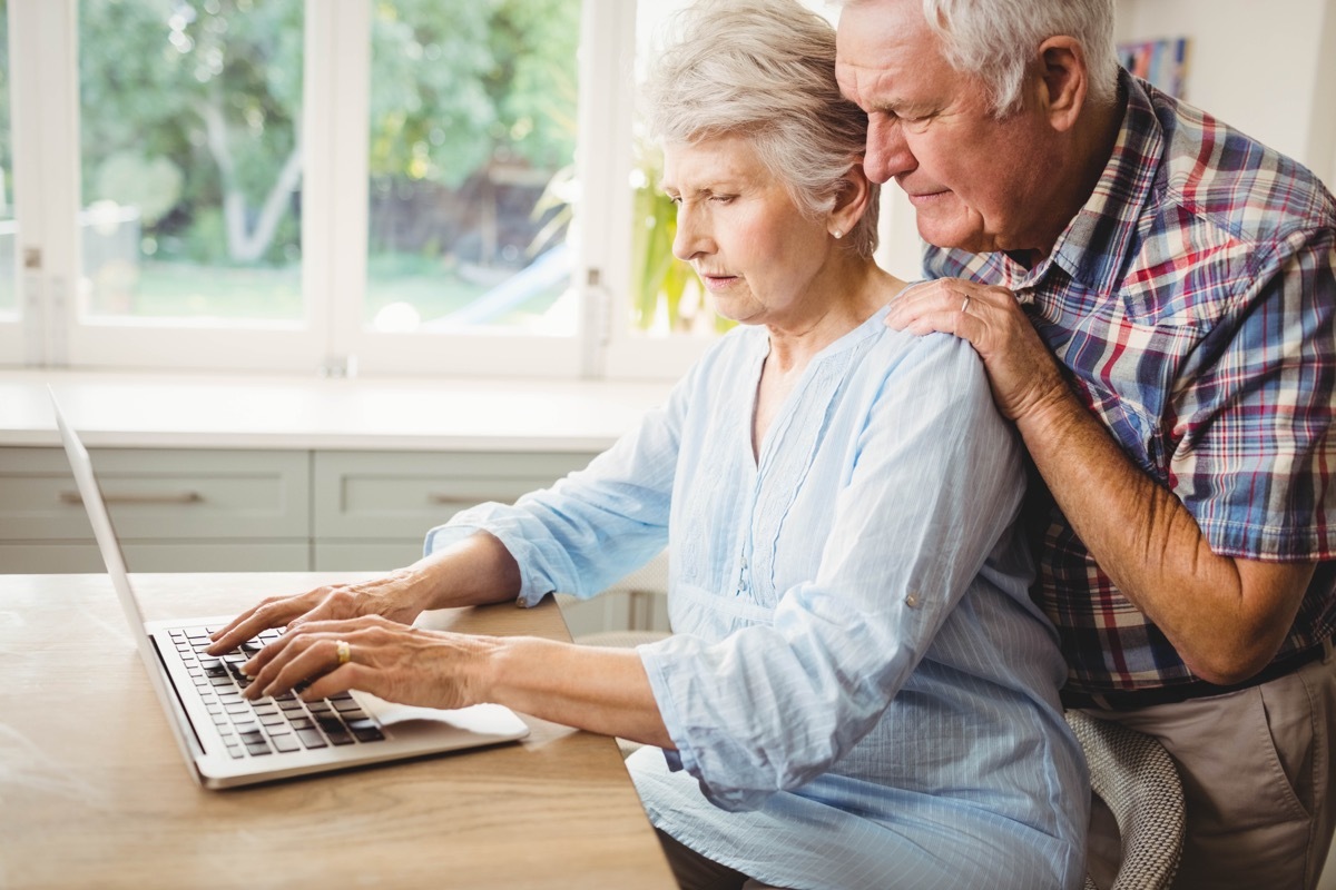
[[484, 504], [521, 603], [669, 546], [675, 635], [640, 647], [676, 751], [628, 761], [652, 822], [786, 887], [1077, 887], [1089, 785], [1030, 602], [1014, 431], [978, 358], [878, 312], [806, 370], [752, 456], [763, 328], [550, 490]]

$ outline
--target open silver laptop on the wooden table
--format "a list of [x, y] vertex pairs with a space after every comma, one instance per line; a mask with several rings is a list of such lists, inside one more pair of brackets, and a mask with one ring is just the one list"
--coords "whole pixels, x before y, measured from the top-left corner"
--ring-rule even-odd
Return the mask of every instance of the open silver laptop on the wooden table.
[[191, 775], [206, 789], [228, 789], [314, 773], [498, 745], [529, 727], [501, 705], [436, 710], [394, 705], [353, 691], [303, 703], [295, 695], [242, 698], [240, 664], [281, 631], [266, 631], [240, 652], [204, 654], [208, 635], [231, 618], [144, 622], [120, 542], [107, 514], [92, 460], [51, 394], [60, 439], [92, 523], [107, 574], [148, 670], [148, 679]]

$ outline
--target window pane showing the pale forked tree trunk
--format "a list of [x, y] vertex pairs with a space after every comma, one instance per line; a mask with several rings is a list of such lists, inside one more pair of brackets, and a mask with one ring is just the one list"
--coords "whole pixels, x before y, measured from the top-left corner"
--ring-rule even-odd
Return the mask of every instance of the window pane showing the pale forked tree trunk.
[[302, 0], [81, 0], [77, 314], [299, 323]]

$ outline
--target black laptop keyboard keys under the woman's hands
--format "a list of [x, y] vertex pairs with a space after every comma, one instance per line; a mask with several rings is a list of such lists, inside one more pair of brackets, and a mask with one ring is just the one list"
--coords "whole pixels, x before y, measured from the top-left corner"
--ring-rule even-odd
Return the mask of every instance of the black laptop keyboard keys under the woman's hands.
[[266, 643], [278, 639], [279, 631], [265, 631], [242, 643], [239, 651], [222, 656], [204, 652], [211, 632], [212, 628], [204, 627], [174, 630], [171, 638], [232, 758], [385, 739], [375, 719], [347, 693], [317, 702], [303, 702], [293, 693], [254, 702], [242, 698], [242, 690], [250, 686], [242, 664]]

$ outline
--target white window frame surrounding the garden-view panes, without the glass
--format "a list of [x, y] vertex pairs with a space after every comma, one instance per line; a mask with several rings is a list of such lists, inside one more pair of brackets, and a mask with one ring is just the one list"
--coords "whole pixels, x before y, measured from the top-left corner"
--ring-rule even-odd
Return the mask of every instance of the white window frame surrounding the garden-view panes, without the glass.
[[[9, 0], [19, 319], [0, 364], [603, 378], [676, 375], [651, 354], [699, 354], [629, 331], [632, 71], [636, 4], [582, 0], [576, 148], [580, 235], [573, 336], [365, 330], [371, 0], [306, 0], [302, 291], [294, 323], [80, 319], [77, 0]], [[335, 101], [337, 97], [337, 101]], [[357, 183], [357, 187], [349, 187]], [[9, 358], [12, 356], [12, 358]]]

